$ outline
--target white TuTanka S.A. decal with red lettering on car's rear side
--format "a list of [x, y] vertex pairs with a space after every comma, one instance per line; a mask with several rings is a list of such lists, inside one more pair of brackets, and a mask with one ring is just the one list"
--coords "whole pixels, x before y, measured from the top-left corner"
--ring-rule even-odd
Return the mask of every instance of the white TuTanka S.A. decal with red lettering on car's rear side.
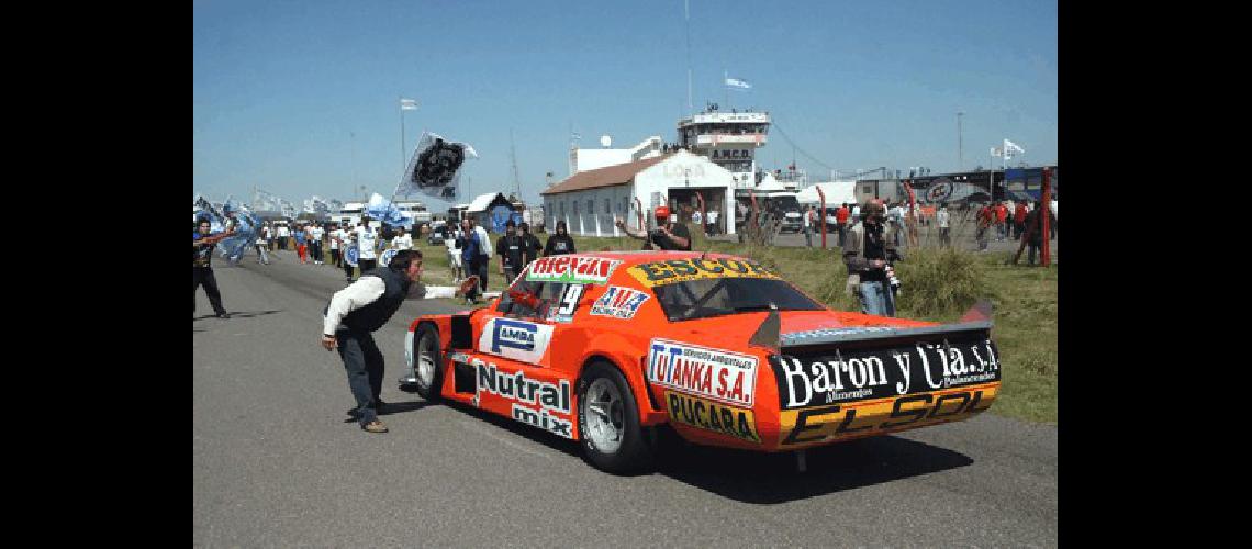
[[751, 408], [756, 356], [654, 339], [647, 351], [647, 379], [681, 393]]

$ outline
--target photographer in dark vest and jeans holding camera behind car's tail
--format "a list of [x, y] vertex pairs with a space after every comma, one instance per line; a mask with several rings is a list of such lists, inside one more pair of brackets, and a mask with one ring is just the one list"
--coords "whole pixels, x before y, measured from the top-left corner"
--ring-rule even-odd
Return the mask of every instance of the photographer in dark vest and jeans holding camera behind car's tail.
[[875, 201], [861, 208], [861, 218], [848, 230], [844, 246], [844, 264], [848, 266], [846, 291], [855, 294], [861, 313], [895, 316], [895, 293], [900, 280], [891, 269], [891, 261], [900, 256], [895, 244], [883, 238], [883, 205]]

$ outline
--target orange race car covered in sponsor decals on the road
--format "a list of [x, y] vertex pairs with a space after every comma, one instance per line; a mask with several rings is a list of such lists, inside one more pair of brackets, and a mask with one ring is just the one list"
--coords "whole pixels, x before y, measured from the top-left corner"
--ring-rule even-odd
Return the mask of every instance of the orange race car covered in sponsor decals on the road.
[[401, 385], [580, 440], [618, 473], [651, 461], [665, 424], [780, 451], [970, 418], [1000, 386], [988, 315], [835, 311], [724, 254], [557, 255], [488, 306], [414, 320]]

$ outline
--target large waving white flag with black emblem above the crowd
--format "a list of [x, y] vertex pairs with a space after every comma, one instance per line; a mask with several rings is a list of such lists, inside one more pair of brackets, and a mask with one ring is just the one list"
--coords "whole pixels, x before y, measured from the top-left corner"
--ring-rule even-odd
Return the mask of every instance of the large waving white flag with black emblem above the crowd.
[[478, 153], [464, 143], [422, 133], [413, 158], [404, 168], [404, 175], [396, 185], [396, 194], [408, 196], [419, 193], [441, 200], [456, 200], [459, 194], [461, 168], [466, 159], [476, 159]]

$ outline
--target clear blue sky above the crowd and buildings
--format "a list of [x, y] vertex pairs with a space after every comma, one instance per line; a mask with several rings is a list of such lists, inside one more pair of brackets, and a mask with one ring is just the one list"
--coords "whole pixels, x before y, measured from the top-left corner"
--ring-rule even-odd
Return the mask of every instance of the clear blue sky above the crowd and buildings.
[[[1003, 139], [1057, 161], [1054, 0], [690, 0], [690, 14], [695, 106], [770, 111], [762, 168], [791, 161], [785, 133], [823, 180], [952, 171], [958, 110], [965, 169]], [[547, 171], [568, 175], [571, 125], [583, 146], [625, 146], [675, 140], [687, 114], [682, 0], [209, 0], [193, 15], [193, 191], [213, 199], [389, 196], [422, 130], [478, 151], [462, 191], [507, 193], [512, 130], [533, 201]], [[727, 104], [724, 70], [752, 90]], [[403, 153], [399, 96], [419, 104]]]

